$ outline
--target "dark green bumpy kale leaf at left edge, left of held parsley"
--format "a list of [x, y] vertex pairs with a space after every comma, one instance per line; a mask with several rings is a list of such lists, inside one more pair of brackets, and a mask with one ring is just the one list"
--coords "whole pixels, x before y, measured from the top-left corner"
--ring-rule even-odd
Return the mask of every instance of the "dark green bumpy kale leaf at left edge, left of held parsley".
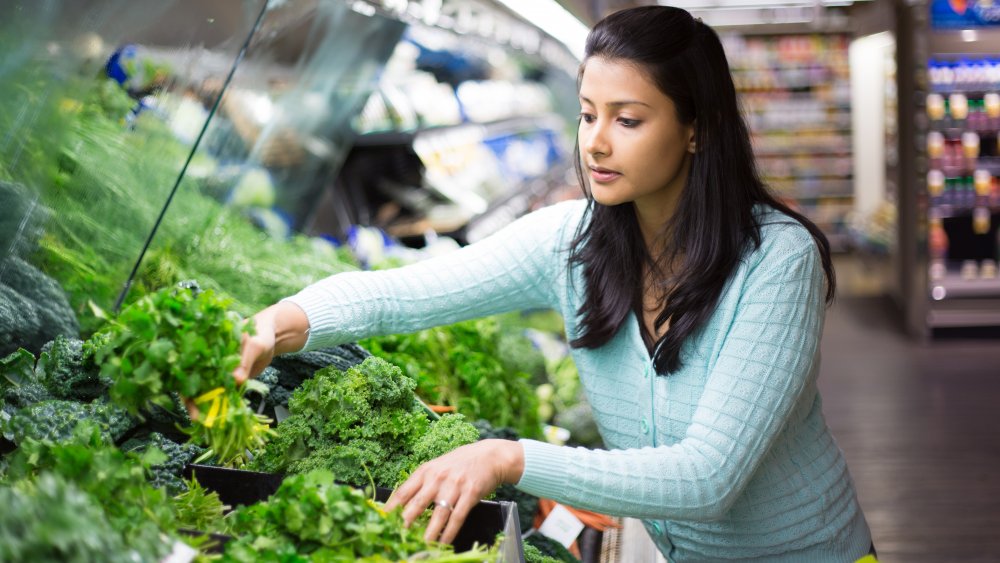
[[138, 425], [136, 418], [112, 404], [50, 399], [15, 412], [4, 425], [3, 435], [15, 444], [27, 439], [61, 442], [70, 439], [76, 425], [84, 420], [96, 423], [105, 438], [112, 442]]

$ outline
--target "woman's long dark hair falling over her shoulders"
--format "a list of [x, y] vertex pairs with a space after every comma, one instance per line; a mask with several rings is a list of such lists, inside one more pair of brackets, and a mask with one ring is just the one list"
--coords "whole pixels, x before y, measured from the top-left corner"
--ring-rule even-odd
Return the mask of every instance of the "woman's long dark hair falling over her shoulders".
[[576, 348], [598, 348], [621, 328], [630, 311], [642, 322], [643, 279], [666, 295], [655, 320], [669, 329], [654, 347], [657, 373], [681, 367], [684, 341], [711, 316], [722, 289], [744, 255], [761, 244], [754, 206], [764, 204], [801, 223], [819, 247], [827, 278], [827, 301], [836, 281], [830, 244], [811, 221], [777, 200], [757, 172], [750, 133], [718, 35], [688, 12], [645, 6], [615, 12], [587, 37], [586, 61], [600, 57], [636, 64], [677, 108], [684, 125], [695, 124], [695, 146], [687, 185], [673, 217], [663, 226], [665, 250], [646, 247], [632, 203], [605, 206], [587, 189], [576, 145], [576, 171], [589, 200], [586, 219], [570, 245], [570, 264], [582, 265], [586, 298], [578, 314]]

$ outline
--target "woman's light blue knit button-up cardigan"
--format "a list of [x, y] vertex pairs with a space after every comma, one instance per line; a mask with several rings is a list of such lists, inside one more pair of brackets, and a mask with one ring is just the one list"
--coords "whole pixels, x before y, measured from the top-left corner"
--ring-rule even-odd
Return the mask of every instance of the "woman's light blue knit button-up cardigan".
[[[808, 231], [763, 212], [748, 254], [683, 368], [654, 374], [630, 315], [607, 344], [577, 349], [608, 450], [522, 440], [518, 488], [641, 518], [672, 561], [854, 561], [871, 534], [816, 388], [825, 281]], [[306, 349], [526, 308], [552, 308], [577, 334], [579, 268], [566, 248], [586, 202], [553, 205], [454, 253], [350, 272], [288, 300], [306, 312]]]

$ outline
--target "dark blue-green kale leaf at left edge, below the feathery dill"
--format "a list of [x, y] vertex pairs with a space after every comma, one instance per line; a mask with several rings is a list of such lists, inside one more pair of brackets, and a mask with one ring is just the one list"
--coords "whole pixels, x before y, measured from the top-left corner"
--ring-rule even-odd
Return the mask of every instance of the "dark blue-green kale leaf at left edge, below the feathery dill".
[[[38, 268], [17, 256], [8, 256], [0, 264], [0, 284], [30, 303], [34, 315], [38, 318], [38, 328], [33, 333], [25, 332], [22, 335], [21, 346], [24, 348], [37, 353], [46, 342], [56, 336], [70, 338], [80, 336], [76, 313], [73, 312], [62, 286]], [[0, 298], [0, 301], [2, 300], [3, 298]], [[0, 308], [2, 307], [0, 305]], [[27, 324], [22, 326], [30, 328]], [[3, 353], [3, 350], [0, 350], [0, 353]]]

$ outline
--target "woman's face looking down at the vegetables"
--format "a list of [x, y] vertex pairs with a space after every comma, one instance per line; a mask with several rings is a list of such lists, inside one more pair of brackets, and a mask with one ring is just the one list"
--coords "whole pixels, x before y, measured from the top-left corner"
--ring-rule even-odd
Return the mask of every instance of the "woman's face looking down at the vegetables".
[[580, 83], [580, 157], [594, 200], [673, 213], [694, 153], [694, 125], [638, 67], [588, 59]]

